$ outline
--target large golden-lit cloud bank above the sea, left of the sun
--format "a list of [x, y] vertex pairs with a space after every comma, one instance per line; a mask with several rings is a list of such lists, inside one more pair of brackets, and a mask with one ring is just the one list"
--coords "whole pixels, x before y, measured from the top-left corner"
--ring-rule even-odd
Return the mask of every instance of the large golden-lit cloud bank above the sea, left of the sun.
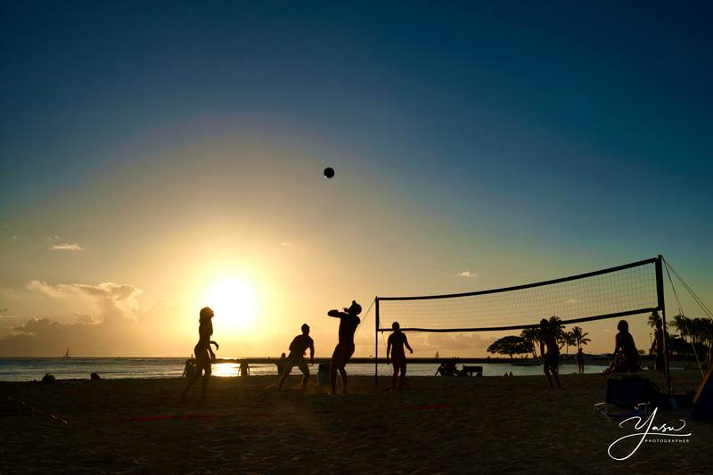
[[[184, 307], [159, 303], [139, 307], [141, 290], [122, 283], [48, 284], [32, 281], [30, 291], [70, 305], [97, 308], [94, 314], [75, 313], [60, 323], [42, 316], [0, 318], [0, 356], [61, 356], [67, 348], [77, 356], [190, 355], [191, 337], [176, 334], [176, 324], [193, 323]], [[22, 323], [24, 322], [24, 323]], [[41, 376], [41, 375], [40, 375]]]

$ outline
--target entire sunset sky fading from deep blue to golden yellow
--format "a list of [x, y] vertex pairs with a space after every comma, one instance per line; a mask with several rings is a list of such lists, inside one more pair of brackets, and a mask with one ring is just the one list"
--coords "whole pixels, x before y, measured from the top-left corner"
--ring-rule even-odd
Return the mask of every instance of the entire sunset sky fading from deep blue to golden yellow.
[[[219, 356], [279, 355], [302, 323], [330, 356], [352, 299], [369, 356], [374, 296], [658, 254], [711, 307], [711, 13], [3, 2], [0, 356], [188, 356], [204, 305]], [[580, 326], [611, 351], [616, 321]]]

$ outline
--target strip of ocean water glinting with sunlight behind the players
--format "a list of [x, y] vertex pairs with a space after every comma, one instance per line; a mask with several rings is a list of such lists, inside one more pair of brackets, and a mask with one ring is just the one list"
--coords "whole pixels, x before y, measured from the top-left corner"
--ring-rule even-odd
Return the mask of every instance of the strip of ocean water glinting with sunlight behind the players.
[[[118, 378], [179, 378], [184, 371], [185, 358], [0, 358], [0, 381], [41, 380], [45, 373], [57, 379], [88, 379], [89, 374], [99, 373], [102, 379]], [[478, 364], [483, 367], [484, 376], [502, 376], [512, 372], [513, 376], [542, 374], [542, 365], [520, 366], [505, 363]], [[461, 367], [461, 364], [458, 364]], [[602, 365], [586, 364], [586, 373], [600, 373]], [[407, 374], [412, 376], [433, 376], [438, 364], [409, 364]], [[317, 373], [318, 366], [310, 367]], [[348, 364], [349, 374], [372, 376], [373, 364]], [[391, 366], [379, 364], [379, 374], [392, 373]], [[560, 373], [577, 373], [575, 364], [560, 364]], [[251, 364], [251, 375], [277, 375], [275, 364]], [[299, 374], [299, 369], [292, 370]], [[217, 377], [239, 376], [238, 364], [213, 364], [213, 375]]]

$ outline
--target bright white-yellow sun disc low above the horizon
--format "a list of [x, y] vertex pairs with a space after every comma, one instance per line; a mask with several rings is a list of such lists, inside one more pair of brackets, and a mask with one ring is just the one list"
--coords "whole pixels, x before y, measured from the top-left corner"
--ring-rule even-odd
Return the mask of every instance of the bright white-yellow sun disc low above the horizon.
[[214, 326], [227, 331], [246, 332], [256, 326], [257, 298], [249, 283], [224, 279], [213, 284], [207, 304], [216, 314]]

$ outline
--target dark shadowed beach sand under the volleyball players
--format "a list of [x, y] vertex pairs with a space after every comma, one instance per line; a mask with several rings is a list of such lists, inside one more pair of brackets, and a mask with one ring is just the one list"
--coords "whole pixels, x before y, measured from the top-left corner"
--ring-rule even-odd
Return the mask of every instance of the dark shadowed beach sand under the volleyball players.
[[[649, 373], [654, 381], [656, 374]], [[676, 372], [682, 393], [700, 373]], [[713, 467], [713, 423], [688, 422], [688, 443], [644, 443], [624, 462], [610, 444], [619, 428], [592, 406], [606, 380], [564, 375], [350, 379], [351, 394], [305, 391], [291, 376], [213, 378], [199, 405], [184, 380], [0, 382], [0, 471], [189, 473], [692, 473]], [[53, 415], [56, 416], [56, 419]], [[657, 422], [679, 413], [660, 412]], [[65, 421], [65, 422], [62, 422]], [[680, 425], [680, 422], [677, 423]]]

